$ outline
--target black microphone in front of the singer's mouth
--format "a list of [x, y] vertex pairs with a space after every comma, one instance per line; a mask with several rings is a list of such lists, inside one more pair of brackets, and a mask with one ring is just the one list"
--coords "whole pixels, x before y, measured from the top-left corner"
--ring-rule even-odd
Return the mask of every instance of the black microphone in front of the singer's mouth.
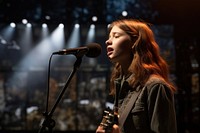
[[56, 54], [56, 55], [73, 54], [77, 57], [82, 57], [86, 55], [87, 57], [95, 58], [101, 54], [101, 50], [102, 48], [100, 44], [91, 43], [91, 44], [86, 45], [85, 47], [63, 49], [63, 50], [54, 52], [53, 54]]

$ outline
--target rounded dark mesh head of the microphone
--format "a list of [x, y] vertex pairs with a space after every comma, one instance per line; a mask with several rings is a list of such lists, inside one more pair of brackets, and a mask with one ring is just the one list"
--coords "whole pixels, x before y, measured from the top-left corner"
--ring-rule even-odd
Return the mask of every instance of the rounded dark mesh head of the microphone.
[[88, 48], [88, 52], [85, 54], [87, 57], [97, 57], [101, 54], [101, 45], [98, 43], [91, 43], [86, 46]]

